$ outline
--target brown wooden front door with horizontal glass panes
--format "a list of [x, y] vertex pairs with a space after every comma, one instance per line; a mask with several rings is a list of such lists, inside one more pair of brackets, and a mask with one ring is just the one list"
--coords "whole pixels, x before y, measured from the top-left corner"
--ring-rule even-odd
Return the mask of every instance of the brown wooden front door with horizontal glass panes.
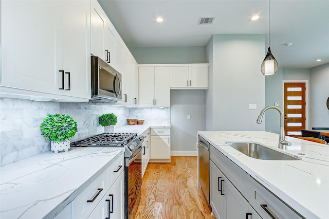
[[285, 135], [300, 137], [306, 123], [305, 82], [284, 83]]

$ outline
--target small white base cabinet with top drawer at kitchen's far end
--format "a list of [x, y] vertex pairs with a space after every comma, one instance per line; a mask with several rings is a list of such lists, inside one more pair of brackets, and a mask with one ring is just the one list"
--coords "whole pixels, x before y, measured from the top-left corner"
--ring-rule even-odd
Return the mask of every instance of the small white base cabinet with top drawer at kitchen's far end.
[[151, 159], [170, 161], [170, 128], [151, 129]]

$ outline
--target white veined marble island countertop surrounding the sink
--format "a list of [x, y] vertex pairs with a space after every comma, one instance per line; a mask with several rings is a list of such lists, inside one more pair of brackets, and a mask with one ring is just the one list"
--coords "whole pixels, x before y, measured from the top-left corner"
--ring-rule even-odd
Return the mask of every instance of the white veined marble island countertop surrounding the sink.
[[[286, 137], [292, 145], [278, 149], [279, 135], [262, 131], [198, 134], [304, 217], [328, 218], [329, 145]], [[254, 159], [231, 148], [224, 143], [226, 141], [258, 142], [302, 159]]]

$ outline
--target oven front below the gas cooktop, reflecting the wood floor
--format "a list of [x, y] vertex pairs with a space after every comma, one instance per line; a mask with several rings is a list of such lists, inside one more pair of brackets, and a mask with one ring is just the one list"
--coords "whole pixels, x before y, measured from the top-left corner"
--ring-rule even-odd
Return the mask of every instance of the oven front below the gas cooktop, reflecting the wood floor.
[[138, 200], [138, 194], [140, 192], [142, 186], [142, 163], [139, 156], [142, 152], [142, 145], [140, 144], [137, 150], [133, 153], [133, 155], [129, 159], [129, 193], [128, 193], [128, 207], [129, 207], [129, 218], [134, 218], [133, 208]]

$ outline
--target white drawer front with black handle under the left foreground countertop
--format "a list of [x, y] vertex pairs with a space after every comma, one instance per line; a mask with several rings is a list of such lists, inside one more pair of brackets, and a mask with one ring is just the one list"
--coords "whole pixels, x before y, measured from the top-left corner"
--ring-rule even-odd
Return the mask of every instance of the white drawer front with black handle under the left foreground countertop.
[[[83, 171], [83, 170], [82, 170]], [[72, 202], [74, 218], [87, 218], [107, 191], [107, 171], [98, 176]], [[93, 200], [94, 199], [94, 200]], [[89, 200], [90, 202], [87, 202]], [[93, 202], [91, 202], [93, 201]]]

